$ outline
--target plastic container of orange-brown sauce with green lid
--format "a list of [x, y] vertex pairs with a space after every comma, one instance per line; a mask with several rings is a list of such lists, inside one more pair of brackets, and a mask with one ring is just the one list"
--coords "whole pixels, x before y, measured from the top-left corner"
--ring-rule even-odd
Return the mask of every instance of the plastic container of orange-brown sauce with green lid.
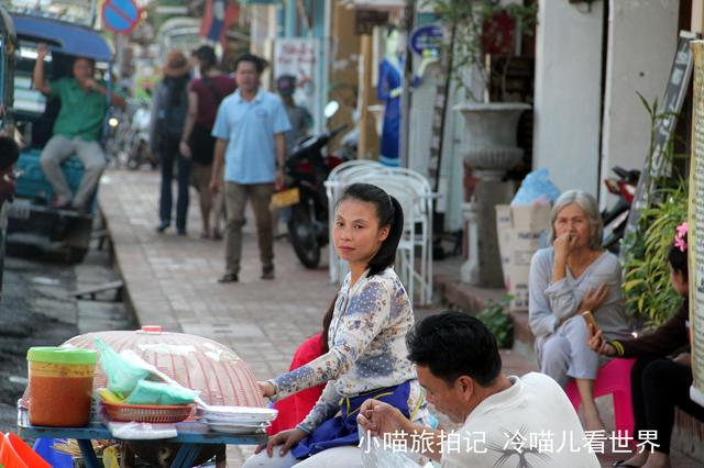
[[88, 424], [98, 353], [32, 347], [26, 359], [30, 366], [30, 423], [54, 427]]

